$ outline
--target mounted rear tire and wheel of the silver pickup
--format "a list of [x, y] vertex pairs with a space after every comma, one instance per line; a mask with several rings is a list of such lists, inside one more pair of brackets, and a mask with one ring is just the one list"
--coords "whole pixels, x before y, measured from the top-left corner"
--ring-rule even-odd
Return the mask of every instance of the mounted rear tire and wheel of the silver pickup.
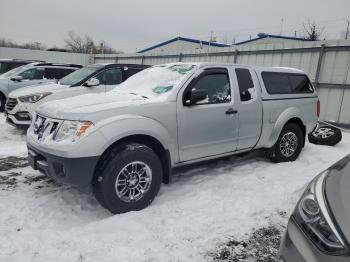
[[268, 151], [268, 157], [275, 163], [295, 161], [303, 148], [304, 139], [298, 125], [287, 124], [283, 127], [276, 144]]

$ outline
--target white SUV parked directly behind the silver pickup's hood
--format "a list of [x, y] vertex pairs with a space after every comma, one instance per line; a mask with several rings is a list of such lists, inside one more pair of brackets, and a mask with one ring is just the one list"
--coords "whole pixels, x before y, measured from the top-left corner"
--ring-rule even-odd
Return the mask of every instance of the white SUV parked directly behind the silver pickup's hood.
[[134, 64], [94, 64], [67, 75], [58, 83], [15, 90], [8, 95], [6, 121], [20, 128], [28, 128], [39, 105], [82, 94], [110, 91], [146, 67], [148, 66]]

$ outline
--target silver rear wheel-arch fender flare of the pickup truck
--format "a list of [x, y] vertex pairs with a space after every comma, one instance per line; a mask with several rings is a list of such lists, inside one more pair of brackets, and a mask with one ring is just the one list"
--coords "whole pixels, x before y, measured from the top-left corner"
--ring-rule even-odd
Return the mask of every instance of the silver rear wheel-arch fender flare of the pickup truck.
[[[274, 122], [274, 115], [271, 114], [270, 121]], [[277, 139], [282, 131], [282, 128], [286, 125], [286, 123], [291, 120], [292, 118], [299, 118], [303, 123], [303, 117], [302, 112], [297, 107], [289, 107], [285, 109], [277, 118], [275, 121], [275, 125], [273, 126], [273, 129], [271, 131], [271, 135], [269, 139], [267, 140], [265, 147], [270, 148], [272, 147], [276, 142]]]

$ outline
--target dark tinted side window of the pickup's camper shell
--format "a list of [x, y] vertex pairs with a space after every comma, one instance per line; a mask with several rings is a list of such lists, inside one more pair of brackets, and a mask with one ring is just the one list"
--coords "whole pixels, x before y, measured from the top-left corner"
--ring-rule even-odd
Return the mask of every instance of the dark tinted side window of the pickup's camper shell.
[[262, 78], [269, 94], [301, 94], [314, 91], [306, 75], [263, 72]]

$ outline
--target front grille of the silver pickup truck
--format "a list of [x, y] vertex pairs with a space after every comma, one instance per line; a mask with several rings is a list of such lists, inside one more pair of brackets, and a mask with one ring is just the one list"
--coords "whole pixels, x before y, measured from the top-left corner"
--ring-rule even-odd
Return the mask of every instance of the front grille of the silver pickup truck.
[[38, 141], [53, 134], [60, 124], [59, 120], [36, 115], [33, 123], [33, 133]]

